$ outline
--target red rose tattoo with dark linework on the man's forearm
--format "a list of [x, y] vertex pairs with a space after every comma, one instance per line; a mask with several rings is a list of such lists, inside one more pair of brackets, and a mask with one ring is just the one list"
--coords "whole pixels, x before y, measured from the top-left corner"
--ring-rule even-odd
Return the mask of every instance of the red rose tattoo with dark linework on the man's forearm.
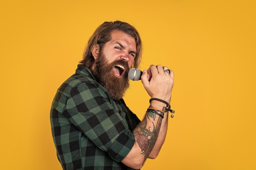
[[[145, 118], [141, 121], [140, 130], [134, 132], [137, 143], [141, 148], [141, 154], [144, 156], [144, 161], [153, 149], [157, 136], [160, 130], [162, 119], [158, 119], [157, 123], [151, 122], [150, 119], [155, 120], [156, 115], [152, 112], [147, 112]], [[150, 124], [150, 126], [148, 126]]]

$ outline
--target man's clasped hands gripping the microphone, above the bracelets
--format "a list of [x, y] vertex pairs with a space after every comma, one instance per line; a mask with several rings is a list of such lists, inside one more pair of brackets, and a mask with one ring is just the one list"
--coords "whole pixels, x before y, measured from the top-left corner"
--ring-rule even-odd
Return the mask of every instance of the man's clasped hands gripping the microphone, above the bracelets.
[[168, 67], [162, 65], [150, 65], [148, 70], [144, 70], [141, 75], [141, 82], [151, 98], [160, 98], [167, 102], [171, 100], [173, 89], [174, 73], [164, 72]]

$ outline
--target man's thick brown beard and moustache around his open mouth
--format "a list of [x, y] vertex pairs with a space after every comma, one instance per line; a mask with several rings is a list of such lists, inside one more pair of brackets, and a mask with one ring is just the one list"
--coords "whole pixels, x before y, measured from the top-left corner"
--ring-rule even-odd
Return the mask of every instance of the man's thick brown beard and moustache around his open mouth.
[[[125, 68], [124, 75], [121, 78], [114, 76], [113, 67], [116, 65], [123, 65]], [[103, 52], [100, 52], [95, 62], [95, 67], [92, 70], [92, 74], [99, 84], [101, 84], [108, 91], [111, 98], [119, 100], [123, 98], [126, 90], [130, 86], [128, 71], [129, 66], [126, 61], [118, 60], [108, 64], [105, 55]]]

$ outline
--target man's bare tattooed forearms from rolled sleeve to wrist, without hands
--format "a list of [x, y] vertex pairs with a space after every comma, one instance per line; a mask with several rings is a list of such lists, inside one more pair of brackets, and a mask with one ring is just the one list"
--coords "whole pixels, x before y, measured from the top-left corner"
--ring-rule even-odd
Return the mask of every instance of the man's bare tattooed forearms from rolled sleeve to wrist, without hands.
[[[161, 109], [164, 103], [154, 101], [150, 107]], [[161, 109], [162, 110], [162, 109]], [[134, 129], [135, 144], [123, 163], [137, 165], [133, 168], [141, 168], [146, 159], [154, 158], [164, 142], [167, 129], [167, 118], [163, 119], [153, 112], [146, 112], [144, 118]], [[129, 159], [128, 159], [129, 158]], [[129, 166], [129, 165], [128, 165]]]

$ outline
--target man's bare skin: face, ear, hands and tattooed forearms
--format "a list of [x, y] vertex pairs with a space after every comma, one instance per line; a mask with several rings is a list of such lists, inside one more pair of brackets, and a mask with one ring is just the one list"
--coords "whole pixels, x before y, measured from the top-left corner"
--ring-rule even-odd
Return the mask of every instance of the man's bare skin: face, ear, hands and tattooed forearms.
[[[130, 69], [136, 56], [135, 39], [121, 31], [112, 31], [111, 36], [112, 39], [103, 46], [103, 52], [108, 63], [124, 60], [129, 65], [129, 68], [124, 69]], [[92, 54], [96, 60], [99, 55], [99, 46], [92, 48]], [[143, 71], [141, 82], [151, 98], [160, 98], [170, 103], [174, 74], [171, 70], [170, 74], [165, 73], [164, 70], [166, 69], [168, 69], [166, 66], [150, 65], [148, 70]], [[116, 74], [115, 67], [112, 74], [117, 78], [124, 75]], [[166, 104], [152, 100], [150, 107], [162, 110]], [[146, 113], [141, 123], [132, 132], [135, 136], [134, 146], [121, 162], [131, 168], [140, 169], [147, 158], [155, 159], [164, 143], [167, 126], [168, 113], [164, 114], [164, 119], [158, 115]]]

